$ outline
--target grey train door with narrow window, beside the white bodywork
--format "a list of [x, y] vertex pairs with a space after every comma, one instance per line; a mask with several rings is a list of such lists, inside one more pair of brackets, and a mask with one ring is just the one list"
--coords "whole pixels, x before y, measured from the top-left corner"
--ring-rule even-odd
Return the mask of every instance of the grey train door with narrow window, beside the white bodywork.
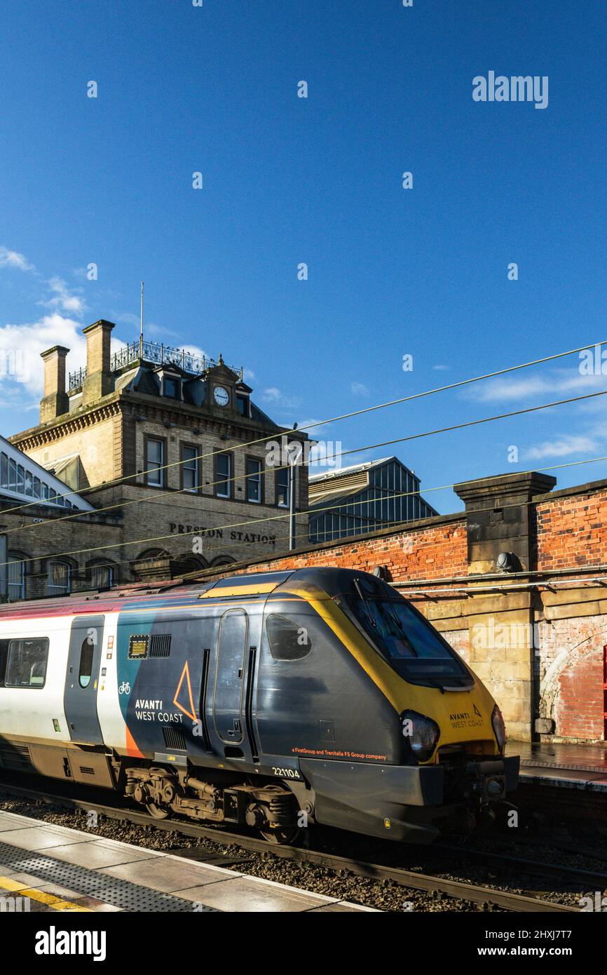
[[63, 708], [72, 741], [102, 745], [96, 695], [103, 616], [77, 616], [69, 638]]

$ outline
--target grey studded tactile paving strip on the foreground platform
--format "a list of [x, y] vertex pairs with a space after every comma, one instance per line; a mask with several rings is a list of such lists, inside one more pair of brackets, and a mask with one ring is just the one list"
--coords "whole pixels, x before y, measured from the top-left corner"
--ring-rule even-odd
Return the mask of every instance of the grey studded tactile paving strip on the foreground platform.
[[62, 887], [77, 890], [86, 897], [95, 897], [97, 901], [112, 904], [123, 911], [220, 913], [216, 908], [152, 890], [130, 880], [97, 874], [86, 867], [64, 863], [46, 854], [32, 853], [31, 850], [23, 850], [12, 843], [0, 842], [0, 863], [16, 873], [33, 874], [41, 880], [59, 883]]

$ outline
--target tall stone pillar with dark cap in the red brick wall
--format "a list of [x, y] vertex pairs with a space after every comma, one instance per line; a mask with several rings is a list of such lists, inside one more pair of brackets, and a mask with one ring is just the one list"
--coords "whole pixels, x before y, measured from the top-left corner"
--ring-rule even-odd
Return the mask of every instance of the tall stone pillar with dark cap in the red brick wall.
[[[454, 488], [466, 504], [470, 665], [500, 705], [509, 737], [518, 741], [533, 737], [534, 597], [530, 589], [513, 587], [527, 581], [524, 573], [537, 568], [532, 499], [555, 484], [555, 478], [531, 472], [482, 478]], [[505, 571], [498, 565], [502, 553], [509, 556]], [[519, 574], [512, 578], [513, 572]], [[486, 591], [494, 580], [479, 579], [475, 594], [474, 575], [490, 573], [500, 575], [495, 591]]]

